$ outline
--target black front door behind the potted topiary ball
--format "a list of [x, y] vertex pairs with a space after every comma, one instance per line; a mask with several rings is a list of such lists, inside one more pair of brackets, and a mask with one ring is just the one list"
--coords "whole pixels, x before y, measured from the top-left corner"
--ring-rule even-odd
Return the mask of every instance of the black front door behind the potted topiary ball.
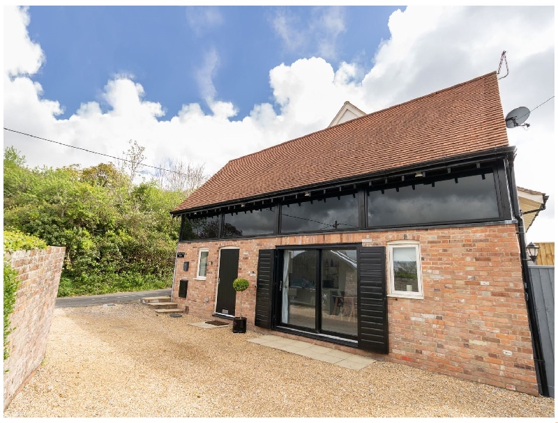
[[221, 249], [215, 312], [234, 316], [236, 291], [232, 282], [239, 277], [239, 249]]

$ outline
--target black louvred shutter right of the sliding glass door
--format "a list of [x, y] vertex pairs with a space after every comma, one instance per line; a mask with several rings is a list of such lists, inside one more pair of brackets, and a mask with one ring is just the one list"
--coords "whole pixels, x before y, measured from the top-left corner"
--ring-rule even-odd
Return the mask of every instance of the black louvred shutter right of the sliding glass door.
[[389, 353], [386, 248], [359, 247], [359, 348]]

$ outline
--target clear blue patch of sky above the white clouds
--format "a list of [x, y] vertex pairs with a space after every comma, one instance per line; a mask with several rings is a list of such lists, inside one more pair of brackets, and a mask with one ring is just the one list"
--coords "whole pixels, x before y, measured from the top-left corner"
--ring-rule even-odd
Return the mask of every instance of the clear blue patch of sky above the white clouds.
[[[329, 55], [332, 63], [369, 65], [382, 39], [389, 38], [387, 21], [397, 6], [343, 10], [345, 30]], [[199, 7], [75, 7], [29, 8], [29, 35], [47, 56], [35, 79], [45, 96], [73, 114], [80, 103], [99, 100], [107, 79], [131, 74], [142, 84], [146, 100], [158, 101], [174, 116], [185, 102], [198, 102], [209, 112], [196, 79], [206, 54], [214, 49], [219, 65], [213, 85], [219, 98], [234, 102], [238, 118], [253, 105], [272, 101], [269, 70], [301, 56], [319, 54], [317, 37], [290, 49], [273, 29], [278, 14], [303, 27], [324, 9], [312, 7], [221, 7], [213, 19]], [[205, 9], [206, 10], [206, 9]], [[312, 39], [313, 38], [313, 39]], [[63, 42], [61, 43], [61, 40]], [[106, 102], [102, 102], [106, 110]], [[162, 117], [165, 119], [165, 117]]]

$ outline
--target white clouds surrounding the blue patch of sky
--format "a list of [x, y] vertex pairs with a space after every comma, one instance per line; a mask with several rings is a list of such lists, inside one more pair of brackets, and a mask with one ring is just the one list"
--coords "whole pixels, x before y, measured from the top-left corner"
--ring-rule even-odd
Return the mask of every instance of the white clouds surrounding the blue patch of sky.
[[[43, 98], [40, 85], [29, 79], [44, 57], [24, 30], [27, 10], [6, 8], [8, 14], [4, 125], [110, 155], [126, 151], [128, 139], [136, 139], [146, 147], [147, 164], [152, 165], [183, 156], [206, 162], [213, 173], [235, 157], [325, 128], [345, 100], [372, 112], [496, 70], [504, 49], [510, 67], [510, 75], [499, 82], [504, 114], [518, 106], [534, 109], [555, 89], [552, 8], [409, 7], [391, 16], [391, 37], [379, 46], [368, 69], [354, 63], [334, 68], [322, 58], [311, 57], [270, 70], [278, 113], [264, 103], [255, 105], [249, 116], [232, 120], [234, 105], [219, 101], [213, 85], [219, 62], [216, 51], [210, 50], [197, 81], [211, 114], [193, 103], [159, 121], [162, 106], [146, 101], [142, 86], [133, 79], [117, 75], [103, 91], [108, 111], [103, 112], [97, 102], [86, 102], [61, 119], [59, 103]], [[342, 26], [332, 20], [331, 28], [340, 31]], [[533, 111], [529, 130], [508, 130], [511, 144], [518, 147], [518, 185], [550, 194], [548, 210], [539, 214], [527, 233], [534, 241], [554, 239], [554, 102]], [[471, 125], [474, 128], [474, 116]], [[10, 132], [4, 132], [4, 145], [15, 145], [31, 166], [90, 166], [106, 161]]]

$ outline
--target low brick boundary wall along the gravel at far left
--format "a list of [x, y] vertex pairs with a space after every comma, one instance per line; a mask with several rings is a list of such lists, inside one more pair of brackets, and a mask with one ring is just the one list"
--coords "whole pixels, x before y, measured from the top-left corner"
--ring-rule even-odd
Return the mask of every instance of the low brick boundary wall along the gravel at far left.
[[19, 273], [8, 335], [10, 357], [4, 361], [4, 410], [45, 357], [66, 247], [6, 253]]

